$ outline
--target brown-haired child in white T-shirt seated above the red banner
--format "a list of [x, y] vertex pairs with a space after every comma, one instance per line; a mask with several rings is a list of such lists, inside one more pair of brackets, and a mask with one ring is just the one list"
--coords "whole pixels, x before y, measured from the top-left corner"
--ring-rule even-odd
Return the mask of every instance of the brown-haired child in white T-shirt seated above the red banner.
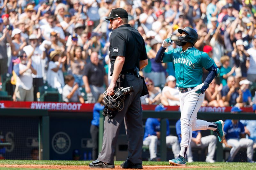
[[65, 102], [80, 102], [84, 103], [84, 98], [78, 90], [79, 85], [75, 83], [75, 78], [72, 75], [65, 76], [66, 85], [63, 87], [62, 99]]

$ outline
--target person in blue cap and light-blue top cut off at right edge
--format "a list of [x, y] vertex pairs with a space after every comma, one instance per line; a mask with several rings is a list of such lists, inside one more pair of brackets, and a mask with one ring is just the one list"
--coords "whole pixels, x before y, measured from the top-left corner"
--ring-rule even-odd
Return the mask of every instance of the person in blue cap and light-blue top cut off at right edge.
[[[256, 114], [256, 104], [252, 105], [252, 110]], [[256, 143], [256, 120], [241, 120], [240, 122], [244, 124], [244, 131], [248, 138]]]

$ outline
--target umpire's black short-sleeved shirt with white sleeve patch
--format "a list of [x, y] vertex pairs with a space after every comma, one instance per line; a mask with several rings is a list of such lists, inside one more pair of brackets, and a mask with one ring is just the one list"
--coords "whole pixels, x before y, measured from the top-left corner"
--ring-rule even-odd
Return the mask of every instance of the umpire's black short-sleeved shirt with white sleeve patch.
[[124, 56], [122, 71], [140, 69], [140, 60], [148, 59], [145, 42], [130, 24], [124, 24], [112, 31], [109, 37], [109, 58], [111, 63], [110, 73], [113, 74], [114, 63], [117, 56]]

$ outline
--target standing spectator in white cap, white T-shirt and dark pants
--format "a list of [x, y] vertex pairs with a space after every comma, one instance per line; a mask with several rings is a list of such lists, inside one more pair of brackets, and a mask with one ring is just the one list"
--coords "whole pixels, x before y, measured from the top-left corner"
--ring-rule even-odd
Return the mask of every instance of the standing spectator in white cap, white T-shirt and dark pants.
[[23, 50], [28, 54], [28, 59], [31, 58], [32, 66], [36, 70], [37, 74], [32, 74], [33, 78], [33, 87], [34, 87], [34, 101], [36, 101], [36, 94], [39, 92], [39, 87], [44, 84], [44, 62], [45, 59], [45, 51], [42, 51], [39, 48], [39, 44], [36, 39], [36, 34], [31, 34], [29, 36], [29, 45], [25, 46]]

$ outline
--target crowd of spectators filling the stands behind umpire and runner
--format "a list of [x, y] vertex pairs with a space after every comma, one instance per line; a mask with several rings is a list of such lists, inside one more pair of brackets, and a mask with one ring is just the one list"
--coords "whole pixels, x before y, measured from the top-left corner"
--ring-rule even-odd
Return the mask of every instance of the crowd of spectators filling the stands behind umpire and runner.
[[[141, 98], [143, 104], [179, 105], [173, 64], [156, 63], [154, 57], [165, 38], [174, 34], [172, 39], [177, 40], [178, 28], [186, 26], [198, 33], [195, 48], [212, 57], [221, 70], [203, 105], [255, 103], [255, 0], [1, 0], [0, 75], [17, 78], [13, 100], [36, 101], [39, 87], [47, 84], [65, 95], [64, 101], [75, 101], [75, 94], [77, 102], [84, 102], [77, 91], [84, 88], [87, 102], [96, 102], [111, 79], [112, 30], [104, 18], [117, 7], [128, 12], [129, 24], [145, 40], [149, 62], [140, 73], [149, 94]], [[172, 48], [179, 47], [173, 44]], [[208, 71], [202, 71], [204, 80]], [[73, 76], [66, 78], [68, 86], [64, 75]], [[33, 98], [31, 93], [19, 96], [22, 88], [26, 94], [33, 91]]]

